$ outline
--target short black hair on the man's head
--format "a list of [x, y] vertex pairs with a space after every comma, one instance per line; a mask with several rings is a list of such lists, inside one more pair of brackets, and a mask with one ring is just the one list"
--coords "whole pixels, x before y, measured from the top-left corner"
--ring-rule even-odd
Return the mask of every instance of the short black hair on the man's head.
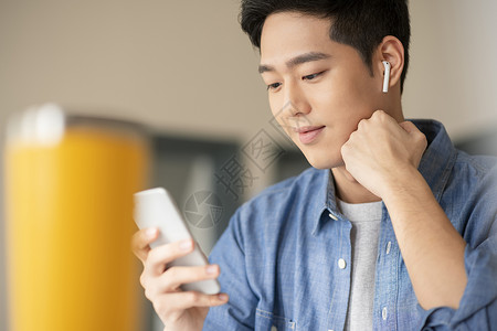
[[266, 18], [285, 11], [330, 19], [329, 38], [355, 47], [371, 74], [374, 49], [387, 35], [399, 39], [404, 46], [403, 92], [411, 40], [408, 0], [242, 0], [239, 21], [252, 45], [261, 50]]

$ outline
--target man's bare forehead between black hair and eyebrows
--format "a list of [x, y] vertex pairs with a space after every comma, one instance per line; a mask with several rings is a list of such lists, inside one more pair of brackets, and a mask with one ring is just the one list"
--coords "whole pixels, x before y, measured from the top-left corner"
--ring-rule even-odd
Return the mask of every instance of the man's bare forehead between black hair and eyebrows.
[[278, 12], [267, 17], [261, 34], [261, 62], [275, 62], [295, 55], [330, 51], [331, 21], [298, 12]]

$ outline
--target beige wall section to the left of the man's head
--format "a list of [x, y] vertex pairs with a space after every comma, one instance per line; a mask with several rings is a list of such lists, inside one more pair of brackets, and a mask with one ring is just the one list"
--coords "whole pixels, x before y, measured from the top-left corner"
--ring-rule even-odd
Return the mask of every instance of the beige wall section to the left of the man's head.
[[57, 100], [168, 131], [239, 137], [267, 113], [237, 6], [2, 2], [0, 109]]

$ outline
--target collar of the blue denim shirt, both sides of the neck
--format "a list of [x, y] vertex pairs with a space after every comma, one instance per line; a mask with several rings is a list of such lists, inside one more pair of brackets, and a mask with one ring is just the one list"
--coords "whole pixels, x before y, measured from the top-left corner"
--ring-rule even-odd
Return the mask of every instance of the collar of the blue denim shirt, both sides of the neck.
[[[445, 127], [434, 119], [410, 119], [420, 131], [426, 136], [427, 148], [421, 159], [419, 171], [423, 175], [432, 192], [440, 202], [442, 192], [448, 181], [452, 167], [456, 158], [456, 149], [448, 137]], [[329, 169], [318, 170], [317, 175], [311, 179], [310, 188], [315, 188], [317, 195], [310, 202], [313, 216], [313, 232], [315, 235], [321, 225], [321, 220], [331, 220], [322, 217], [322, 213], [331, 213], [337, 220], [343, 217], [337, 207], [335, 199], [335, 180]]]

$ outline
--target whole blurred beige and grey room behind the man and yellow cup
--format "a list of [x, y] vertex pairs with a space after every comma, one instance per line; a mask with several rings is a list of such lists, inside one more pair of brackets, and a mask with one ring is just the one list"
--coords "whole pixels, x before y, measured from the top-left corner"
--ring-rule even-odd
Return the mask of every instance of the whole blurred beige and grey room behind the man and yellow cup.
[[[169, 188], [190, 212], [209, 254], [236, 206], [308, 167], [274, 126], [239, 6], [0, 0], [2, 136], [10, 114], [46, 102], [149, 126], [150, 184]], [[410, 9], [405, 116], [441, 120], [458, 147], [497, 154], [497, 2], [415, 0]], [[205, 194], [215, 199], [192, 204]], [[211, 223], [193, 221], [203, 213]], [[2, 244], [3, 228], [2, 215]], [[7, 290], [0, 245], [0, 330], [7, 330]], [[161, 330], [148, 301], [138, 301], [147, 316], [141, 330]]]

